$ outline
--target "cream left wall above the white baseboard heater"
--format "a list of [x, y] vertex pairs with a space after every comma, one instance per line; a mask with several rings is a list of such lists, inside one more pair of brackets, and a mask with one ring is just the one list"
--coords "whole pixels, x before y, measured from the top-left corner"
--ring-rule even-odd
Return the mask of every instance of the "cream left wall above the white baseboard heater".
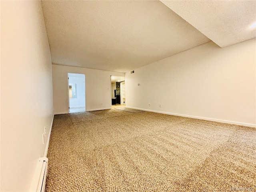
[[[1, 1], [1, 191], [30, 189], [53, 118], [41, 1]], [[46, 127], [45, 144], [42, 134]]]

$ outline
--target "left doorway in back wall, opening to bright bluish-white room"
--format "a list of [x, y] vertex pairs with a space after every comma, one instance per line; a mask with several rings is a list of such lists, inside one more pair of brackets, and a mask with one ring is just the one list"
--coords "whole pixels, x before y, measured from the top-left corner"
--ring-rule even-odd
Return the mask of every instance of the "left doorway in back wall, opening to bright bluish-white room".
[[68, 73], [69, 113], [85, 112], [85, 75]]

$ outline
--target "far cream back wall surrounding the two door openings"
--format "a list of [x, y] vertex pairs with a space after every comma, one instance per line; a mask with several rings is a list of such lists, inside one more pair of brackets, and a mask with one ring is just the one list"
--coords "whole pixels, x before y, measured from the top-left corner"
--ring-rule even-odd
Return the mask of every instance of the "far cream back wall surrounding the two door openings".
[[68, 113], [68, 73], [85, 74], [86, 111], [111, 108], [111, 78], [124, 73], [52, 65], [54, 114]]

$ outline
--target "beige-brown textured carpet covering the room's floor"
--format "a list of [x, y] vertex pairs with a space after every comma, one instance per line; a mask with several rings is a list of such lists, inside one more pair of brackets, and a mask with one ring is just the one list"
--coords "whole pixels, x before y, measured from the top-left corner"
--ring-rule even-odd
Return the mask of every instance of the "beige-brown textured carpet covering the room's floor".
[[256, 129], [151, 112], [54, 116], [46, 192], [256, 191]]

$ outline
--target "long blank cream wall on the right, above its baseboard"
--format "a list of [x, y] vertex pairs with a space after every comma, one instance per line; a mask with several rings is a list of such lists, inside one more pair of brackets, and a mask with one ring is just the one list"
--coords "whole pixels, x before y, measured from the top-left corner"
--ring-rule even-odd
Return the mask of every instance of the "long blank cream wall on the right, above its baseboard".
[[127, 72], [126, 106], [255, 126], [255, 68], [255, 39], [226, 48], [209, 42]]

